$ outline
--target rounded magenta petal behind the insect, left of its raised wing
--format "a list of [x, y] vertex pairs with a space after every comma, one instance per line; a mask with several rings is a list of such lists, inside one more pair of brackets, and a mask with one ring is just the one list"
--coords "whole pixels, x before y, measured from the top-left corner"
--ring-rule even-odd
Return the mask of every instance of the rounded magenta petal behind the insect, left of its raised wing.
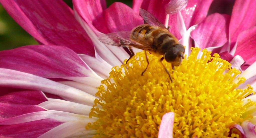
[[104, 16], [110, 32], [131, 31], [134, 27], [144, 23], [141, 16], [120, 2], [115, 2], [106, 9]]

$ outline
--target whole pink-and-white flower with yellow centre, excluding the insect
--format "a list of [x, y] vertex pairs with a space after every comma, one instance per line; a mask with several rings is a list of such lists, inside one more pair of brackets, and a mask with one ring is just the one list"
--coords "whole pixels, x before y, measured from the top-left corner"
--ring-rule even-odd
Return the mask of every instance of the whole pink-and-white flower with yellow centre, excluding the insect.
[[[254, 0], [236, 0], [231, 17], [207, 16], [212, 0], [0, 3], [40, 44], [0, 51], [1, 137], [256, 136]], [[98, 41], [143, 24], [140, 8], [186, 46], [175, 70], [163, 62], [173, 82], [158, 56], [141, 76], [144, 53], [125, 64], [125, 49]]]

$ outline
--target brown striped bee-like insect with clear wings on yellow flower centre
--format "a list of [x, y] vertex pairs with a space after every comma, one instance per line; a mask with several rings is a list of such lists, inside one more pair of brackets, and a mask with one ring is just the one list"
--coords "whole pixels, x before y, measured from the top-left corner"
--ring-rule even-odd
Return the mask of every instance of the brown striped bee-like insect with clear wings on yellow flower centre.
[[[179, 44], [176, 37], [169, 32], [169, 26], [166, 28], [158, 19], [144, 9], [140, 9], [140, 15], [147, 24], [139, 25], [131, 32], [126, 31], [105, 34], [99, 37], [99, 41], [108, 45], [129, 48], [131, 56], [126, 60], [126, 64], [134, 56], [132, 48], [144, 50], [147, 60], [147, 67], [149, 62], [146, 51], [153, 54], [162, 55], [163, 57], [161, 57], [159, 61], [172, 81], [170, 73], [162, 61], [165, 59], [167, 62], [170, 62], [174, 70], [174, 67], [179, 66], [182, 59], [184, 59], [185, 48], [182, 44]], [[142, 76], [147, 70], [147, 67], [141, 73]]]

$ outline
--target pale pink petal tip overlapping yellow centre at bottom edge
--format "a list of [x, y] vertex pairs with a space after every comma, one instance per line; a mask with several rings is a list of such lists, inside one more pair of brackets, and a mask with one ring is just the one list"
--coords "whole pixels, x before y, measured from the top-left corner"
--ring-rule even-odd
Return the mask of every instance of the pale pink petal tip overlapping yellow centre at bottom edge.
[[158, 131], [158, 138], [173, 137], [174, 112], [168, 112], [163, 115]]

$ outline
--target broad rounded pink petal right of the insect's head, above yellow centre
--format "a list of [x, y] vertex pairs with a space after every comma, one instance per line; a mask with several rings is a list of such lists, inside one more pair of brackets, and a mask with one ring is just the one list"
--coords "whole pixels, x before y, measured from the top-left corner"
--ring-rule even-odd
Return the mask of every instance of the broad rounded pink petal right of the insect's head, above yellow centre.
[[191, 32], [191, 37], [201, 49], [222, 46], [228, 41], [229, 20], [229, 15], [209, 15]]

